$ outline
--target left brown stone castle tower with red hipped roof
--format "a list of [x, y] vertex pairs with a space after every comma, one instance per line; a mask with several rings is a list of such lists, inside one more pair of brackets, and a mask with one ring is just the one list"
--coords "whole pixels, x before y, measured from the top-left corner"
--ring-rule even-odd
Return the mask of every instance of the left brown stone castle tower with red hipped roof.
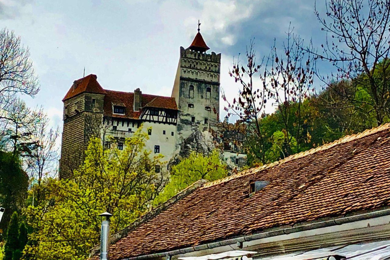
[[[106, 91], [88, 75], [74, 81], [63, 98], [63, 130], [59, 178], [69, 178], [81, 165], [84, 150], [92, 134], [100, 135], [99, 125], [103, 118]], [[99, 124], [99, 125], [97, 125]]]

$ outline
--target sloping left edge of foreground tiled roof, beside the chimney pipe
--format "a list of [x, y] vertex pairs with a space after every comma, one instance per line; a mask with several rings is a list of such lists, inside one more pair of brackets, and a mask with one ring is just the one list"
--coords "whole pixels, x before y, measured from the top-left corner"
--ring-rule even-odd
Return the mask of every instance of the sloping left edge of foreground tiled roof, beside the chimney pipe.
[[[110, 237], [110, 244], [115, 244], [117, 241], [119, 241], [120, 239], [125, 237], [129, 232], [135, 230], [139, 225], [141, 225], [142, 223], [144, 223], [146, 221], [149, 221], [150, 219], [154, 218], [155, 216], [157, 216], [161, 212], [163, 212], [166, 209], [168, 209], [169, 207], [171, 207], [176, 202], [178, 202], [181, 199], [183, 199], [184, 197], [188, 196], [190, 193], [192, 193], [192, 191], [196, 190], [199, 187], [202, 187], [207, 182], [208, 182], [208, 180], [200, 179], [200, 180], [192, 183], [191, 185], [189, 185], [188, 187], [186, 187], [185, 189], [183, 189], [182, 191], [177, 193], [174, 197], [172, 197], [168, 201], [164, 202], [163, 204], [160, 204], [155, 209], [153, 209], [153, 210], [149, 211], [148, 213], [142, 215], [140, 218], [138, 218], [132, 224], [126, 226], [126, 228], [124, 228], [121, 231], [113, 234]], [[100, 252], [100, 245], [94, 246], [91, 249], [90, 257], [94, 256], [94, 255], [97, 255], [99, 252]]]

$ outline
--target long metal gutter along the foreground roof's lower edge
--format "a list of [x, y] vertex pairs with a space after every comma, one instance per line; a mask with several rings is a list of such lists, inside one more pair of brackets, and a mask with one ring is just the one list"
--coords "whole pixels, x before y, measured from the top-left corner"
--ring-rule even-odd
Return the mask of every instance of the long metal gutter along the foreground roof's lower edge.
[[378, 210], [378, 211], [363, 213], [363, 214], [349, 216], [349, 217], [342, 217], [342, 218], [320, 221], [320, 222], [315, 222], [315, 223], [306, 224], [306, 225], [300, 225], [300, 226], [296, 226], [294, 228], [279, 229], [279, 230], [275, 230], [275, 231], [263, 232], [263, 233], [258, 233], [258, 234], [254, 234], [254, 235], [248, 235], [248, 236], [243, 236], [243, 237], [238, 237], [238, 238], [233, 238], [233, 239], [226, 239], [226, 240], [222, 240], [219, 242], [207, 243], [204, 245], [186, 247], [186, 248], [168, 251], [168, 252], [164, 252], [164, 253], [154, 253], [154, 254], [146, 254], [146, 255], [140, 255], [140, 256], [130, 257], [130, 258], [122, 258], [122, 260], [146, 260], [146, 259], [153, 259], [153, 258], [160, 258], [160, 257], [167, 257], [169, 259], [170, 256], [174, 256], [174, 255], [178, 255], [178, 254], [185, 254], [185, 253], [201, 251], [201, 250], [205, 250], [205, 249], [212, 249], [212, 248], [216, 248], [216, 247], [220, 247], [220, 246], [229, 246], [229, 245], [233, 245], [233, 244], [237, 244], [237, 243], [248, 242], [248, 241], [253, 241], [253, 240], [257, 240], [257, 239], [264, 239], [264, 238], [269, 238], [269, 237], [275, 237], [275, 236], [280, 236], [280, 235], [288, 235], [291, 233], [297, 233], [297, 232], [302, 232], [302, 231], [327, 228], [329, 226], [347, 224], [347, 223], [352, 223], [355, 221], [367, 220], [367, 219], [371, 219], [371, 218], [383, 217], [383, 216], [388, 216], [388, 215], [390, 215], [390, 209]]

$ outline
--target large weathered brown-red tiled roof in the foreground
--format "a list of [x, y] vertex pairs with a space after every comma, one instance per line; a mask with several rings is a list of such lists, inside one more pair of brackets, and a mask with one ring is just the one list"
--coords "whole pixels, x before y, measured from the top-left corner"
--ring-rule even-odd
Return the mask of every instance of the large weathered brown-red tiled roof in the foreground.
[[[390, 204], [390, 125], [206, 183], [110, 247], [166, 252]], [[269, 181], [249, 197], [251, 181]]]

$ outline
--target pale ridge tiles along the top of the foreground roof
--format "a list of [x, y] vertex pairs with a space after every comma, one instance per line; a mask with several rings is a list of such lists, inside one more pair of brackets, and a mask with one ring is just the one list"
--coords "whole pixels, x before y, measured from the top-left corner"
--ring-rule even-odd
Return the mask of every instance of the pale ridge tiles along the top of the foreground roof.
[[347, 136], [344, 136], [344, 137], [342, 137], [336, 141], [333, 141], [331, 143], [324, 144], [324, 145], [321, 145], [321, 146], [318, 146], [318, 147], [315, 147], [315, 148], [312, 148], [312, 149], [309, 149], [306, 151], [302, 151], [302, 152], [299, 152], [296, 154], [292, 154], [284, 159], [274, 161], [273, 163], [266, 164], [266, 165], [259, 166], [259, 167], [250, 168], [250, 169], [242, 171], [238, 174], [231, 175], [231, 176], [219, 179], [219, 180], [205, 183], [201, 188], [207, 188], [207, 187], [210, 187], [210, 186], [222, 183], [222, 182], [230, 181], [232, 179], [235, 179], [235, 178], [238, 178], [238, 177], [241, 177], [244, 175], [254, 174], [254, 173], [257, 173], [259, 171], [262, 171], [262, 170], [265, 170], [268, 168], [272, 168], [272, 167], [280, 165], [280, 164], [284, 164], [287, 161], [297, 159], [297, 158], [302, 158], [302, 157], [305, 157], [309, 154], [316, 153], [318, 151], [327, 150], [327, 149], [330, 149], [336, 145], [347, 143], [347, 142], [350, 142], [350, 141], [353, 141], [356, 139], [360, 139], [362, 137], [369, 136], [371, 134], [375, 134], [377, 132], [383, 131], [384, 129], [388, 129], [388, 128], [390, 128], [390, 123], [385, 123], [385, 124], [379, 125], [379, 126], [374, 127], [374, 128], [366, 129], [365, 131], [358, 133], [358, 134], [347, 135]]

